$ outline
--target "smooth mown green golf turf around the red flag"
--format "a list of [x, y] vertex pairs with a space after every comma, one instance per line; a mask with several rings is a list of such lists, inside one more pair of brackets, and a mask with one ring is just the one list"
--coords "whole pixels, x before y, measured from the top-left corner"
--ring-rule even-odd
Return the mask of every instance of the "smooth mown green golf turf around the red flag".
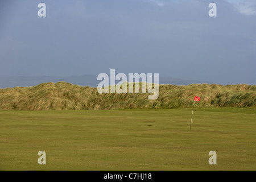
[[256, 170], [255, 107], [196, 108], [191, 131], [190, 118], [191, 109], [2, 110], [0, 170]]

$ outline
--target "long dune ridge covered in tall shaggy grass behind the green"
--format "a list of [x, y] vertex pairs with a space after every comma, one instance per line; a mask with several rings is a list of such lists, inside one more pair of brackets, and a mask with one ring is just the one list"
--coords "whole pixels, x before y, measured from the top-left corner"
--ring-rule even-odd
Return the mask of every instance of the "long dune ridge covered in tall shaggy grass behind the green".
[[[128, 88], [128, 86], [127, 86]], [[110, 110], [197, 107], [255, 107], [256, 85], [159, 85], [157, 100], [146, 94], [100, 94], [97, 88], [67, 82], [0, 89], [1, 110]]]

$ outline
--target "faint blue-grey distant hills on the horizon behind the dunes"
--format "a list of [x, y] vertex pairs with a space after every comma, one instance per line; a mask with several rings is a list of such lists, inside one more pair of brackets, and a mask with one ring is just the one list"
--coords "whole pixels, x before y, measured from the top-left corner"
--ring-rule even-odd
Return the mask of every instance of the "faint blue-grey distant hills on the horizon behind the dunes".
[[[9, 76], [0, 77], [0, 88], [14, 88], [15, 86], [36, 86], [44, 82], [69, 82], [80, 86], [97, 87], [100, 81], [97, 80], [97, 75], [83, 75], [71, 77], [58, 77], [58, 76]], [[203, 84], [212, 82], [196, 81], [196, 80], [182, 80], [172, 77], [159, 77], [159, 84], [172, 84], [172, 85], [189, 85], [189, 84]]]

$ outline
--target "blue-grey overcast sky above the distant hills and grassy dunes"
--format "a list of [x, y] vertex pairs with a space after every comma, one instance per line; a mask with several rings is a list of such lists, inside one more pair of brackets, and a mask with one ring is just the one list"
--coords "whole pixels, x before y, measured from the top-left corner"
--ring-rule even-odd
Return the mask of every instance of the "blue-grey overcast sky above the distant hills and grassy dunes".
[[[46, 4], [46, 17], [38, 4]], [[210, 17], [209, 3], [217, 16]], [[0, 76], [159, 73], [256, 84], [255, 0], [2, 0]]]

